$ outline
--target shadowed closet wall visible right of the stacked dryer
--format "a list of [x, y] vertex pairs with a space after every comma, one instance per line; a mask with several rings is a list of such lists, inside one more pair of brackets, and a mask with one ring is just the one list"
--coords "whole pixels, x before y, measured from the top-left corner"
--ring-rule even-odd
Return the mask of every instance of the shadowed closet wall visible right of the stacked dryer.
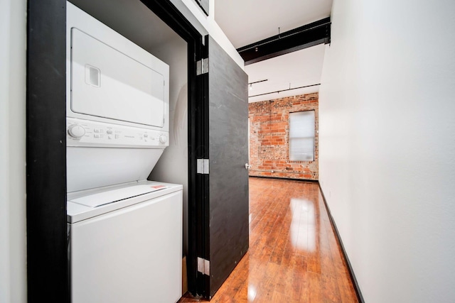
[[149, 180], [183, 184], [183, 253], [188, 250], [188, 50], [181, 38], [154, 49], [169, 65], [169, 146]]

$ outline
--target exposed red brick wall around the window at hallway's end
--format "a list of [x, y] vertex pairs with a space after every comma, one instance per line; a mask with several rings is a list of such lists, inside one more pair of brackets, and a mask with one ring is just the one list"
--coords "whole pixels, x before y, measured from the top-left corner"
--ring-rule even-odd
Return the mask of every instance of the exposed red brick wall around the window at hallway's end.
[[[318, 180], [319, 94], [304, 94], [249, 104], [250, 176]], [[289, 113], [314, 110], [314, 161], [289, 160]]]

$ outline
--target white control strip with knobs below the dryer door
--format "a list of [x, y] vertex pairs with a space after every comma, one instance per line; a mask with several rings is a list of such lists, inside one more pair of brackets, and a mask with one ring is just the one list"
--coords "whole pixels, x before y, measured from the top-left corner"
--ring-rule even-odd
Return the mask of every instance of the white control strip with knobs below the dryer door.
[[67, 146], [166, 148], [168, 133], [147, 128], [66, 118]]

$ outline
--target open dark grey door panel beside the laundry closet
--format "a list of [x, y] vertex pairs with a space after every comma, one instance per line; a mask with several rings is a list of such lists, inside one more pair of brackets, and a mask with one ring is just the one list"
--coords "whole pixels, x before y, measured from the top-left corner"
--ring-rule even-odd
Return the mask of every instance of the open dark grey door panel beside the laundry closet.
[[248, 77], [210, 38], [210, 296], [248, 249]]

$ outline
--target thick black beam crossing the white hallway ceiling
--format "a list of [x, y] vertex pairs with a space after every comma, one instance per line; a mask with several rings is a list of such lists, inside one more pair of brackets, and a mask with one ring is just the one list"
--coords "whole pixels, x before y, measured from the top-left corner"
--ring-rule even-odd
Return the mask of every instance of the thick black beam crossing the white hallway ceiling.
[[237, 48], [237, 52], [245, 61], [245, 65], [249, 65], [314, 45], [330, 43], [330, 35], [331, 21], [328, 17]]

